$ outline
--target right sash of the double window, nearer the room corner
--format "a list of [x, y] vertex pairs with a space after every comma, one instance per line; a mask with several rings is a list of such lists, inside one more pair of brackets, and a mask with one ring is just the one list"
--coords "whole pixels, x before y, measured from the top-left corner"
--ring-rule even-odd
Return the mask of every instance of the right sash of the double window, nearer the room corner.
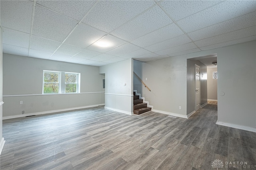
[[65, 73], [65, 93], [78, 92], [78, 74]]

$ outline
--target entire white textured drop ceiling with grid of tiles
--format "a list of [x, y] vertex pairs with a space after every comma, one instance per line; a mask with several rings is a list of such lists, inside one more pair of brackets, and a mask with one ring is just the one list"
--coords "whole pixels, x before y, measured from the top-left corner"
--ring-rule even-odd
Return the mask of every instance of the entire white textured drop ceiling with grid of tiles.
[[256, 40], [256, 1], [1, 0], [0, 6], [4, 53], [70, 63], [147, 62]]

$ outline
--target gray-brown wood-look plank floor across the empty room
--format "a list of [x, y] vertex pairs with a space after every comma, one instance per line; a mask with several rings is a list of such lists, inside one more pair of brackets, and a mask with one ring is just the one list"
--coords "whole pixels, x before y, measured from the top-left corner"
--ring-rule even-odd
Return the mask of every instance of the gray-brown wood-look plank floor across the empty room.
[[[4, 120], [0, 169], [217, 170], [211, 166], [216, 159], [224, 164], [219, 170], [256, 169], [256, 133], [216, 120], [216, 102], [189, 119], [93, 107]], [[235, 168], [226, 168], [226, 161], [236, 161]]]

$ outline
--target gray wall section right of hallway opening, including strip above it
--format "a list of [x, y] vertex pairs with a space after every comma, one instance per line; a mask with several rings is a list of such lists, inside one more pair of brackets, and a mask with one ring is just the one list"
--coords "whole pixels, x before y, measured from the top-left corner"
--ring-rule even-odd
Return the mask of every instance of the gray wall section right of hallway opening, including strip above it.
[[218, 55], [218, 122], [256, 131], [256, 41], [190, 53]]

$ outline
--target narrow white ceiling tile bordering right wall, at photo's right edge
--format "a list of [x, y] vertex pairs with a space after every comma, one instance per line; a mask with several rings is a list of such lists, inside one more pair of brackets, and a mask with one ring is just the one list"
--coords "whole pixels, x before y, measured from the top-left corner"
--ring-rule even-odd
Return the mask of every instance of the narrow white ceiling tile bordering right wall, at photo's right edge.
[[255, 35], [250, 36], [250, 37], [241, 38], [241, 39], [235, 39], [235, 40], [232, 40], [232, 41], [227, 41], [227, 42], [224, 42], [224, 43], [218, 43], [218, 44], [214, 44], [214, 45], [200, 47], [200, 49], [202, 49], [202, 50], [216, 49], [216, 48], [225, 47], [225, 46], [228, 46], [228, 45], [244, 43], [244, 42], [253, 41], [253, 40], [256, 40]]

